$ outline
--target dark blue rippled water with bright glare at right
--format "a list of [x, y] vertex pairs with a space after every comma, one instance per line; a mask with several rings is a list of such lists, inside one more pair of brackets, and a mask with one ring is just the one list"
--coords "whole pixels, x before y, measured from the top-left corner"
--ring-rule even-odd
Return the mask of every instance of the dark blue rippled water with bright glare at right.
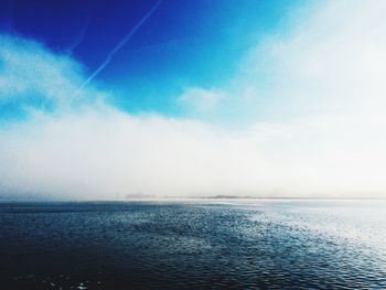
[[386, 203], [0, 204], [0, 289], [386, 289]]

